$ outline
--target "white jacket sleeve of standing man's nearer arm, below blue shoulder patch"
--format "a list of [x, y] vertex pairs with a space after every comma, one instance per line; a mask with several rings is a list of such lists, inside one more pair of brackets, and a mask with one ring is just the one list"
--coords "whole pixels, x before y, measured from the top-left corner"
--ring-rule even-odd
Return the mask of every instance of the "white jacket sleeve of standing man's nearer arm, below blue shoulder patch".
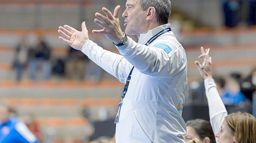
[[[186, 53], [183, 48], [176, 48], [167, 54], [163, 49], [138, 44], [131, 38], [127, 44], [117, 47], [123, 55], [140, 72], [157, 77], [175, 76], [181, 69], [186, 69]], [[161, 39], [161, 41], [170, 39]], [[171, 42], [167, 43], [172, 46]], [[177, 46], [176, 46], [177, 47]]]

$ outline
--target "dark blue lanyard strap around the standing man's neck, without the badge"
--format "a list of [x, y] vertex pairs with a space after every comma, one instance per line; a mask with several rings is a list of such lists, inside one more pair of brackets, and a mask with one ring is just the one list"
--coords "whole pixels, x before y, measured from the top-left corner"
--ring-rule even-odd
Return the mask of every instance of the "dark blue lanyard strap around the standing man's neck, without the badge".
[[[164, 34], [164, 33], [170, 32], [170, 31], [171, 31], [171, 28], [170, 28], [170, 27], [169, 27], [169, 28], [166, 28], [166, 29], [164, 29], [164, 30], [162, 30], [162, 31], [160, 31], [159, 33], [155, 34], [151, 39], [149, 39], [145, 45], [148, 46], [148, 45], [151, 44], [155, 39], [157, 39], [159, 36], [161, 36], [161, 35]], [[127, 78], [127, 80], [126, 80], [126, 84], [125, 84], [125, 86], [124, 86], [124, 90], [123, 90], [123, 93], [122, 93], [122, 96], [121, 96], [121, 102], [123, 101], [123, 99], [124, 99], [124, 97], [125, 97], [125, 94], [126, 94], [126, 92], [127, 92], [127, 90], [128, 90], [128, 86], [129, 86], [129, 83], [130, 83], [130, 80], [131, 80], [131, 75], [132, 75], [133, 69], [134, 69], [134, 66], [132, 67], [132, 69], [131, 69], [131, 71], [130, 71], [130, 73], [129, 73], [129, 75], [128, 75], [128, 78]]]

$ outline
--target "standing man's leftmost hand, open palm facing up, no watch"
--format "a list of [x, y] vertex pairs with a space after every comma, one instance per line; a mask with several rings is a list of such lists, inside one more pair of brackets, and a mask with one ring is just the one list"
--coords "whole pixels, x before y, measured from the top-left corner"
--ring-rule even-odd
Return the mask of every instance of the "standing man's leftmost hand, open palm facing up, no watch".
[[60, 26], [58, 33], [61, 36], [59, 36], [59, 39], [74, 49], [81, 50], [85, 43], [89, 41], [88, 30], [85, 22], [83, 22], [81, 26], [82, 31], [78, 31], [69, 25], [64, 25], [63, 27]]

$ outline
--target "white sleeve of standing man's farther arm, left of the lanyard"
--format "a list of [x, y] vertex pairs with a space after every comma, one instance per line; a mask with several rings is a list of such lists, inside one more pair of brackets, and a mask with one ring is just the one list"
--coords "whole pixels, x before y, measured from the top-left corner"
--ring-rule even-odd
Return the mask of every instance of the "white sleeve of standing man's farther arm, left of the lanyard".
[[133, 66], [122, 55], [104, 50], [91, 40], [82, 47], [81, 51], [120, 82], [126, 83]]

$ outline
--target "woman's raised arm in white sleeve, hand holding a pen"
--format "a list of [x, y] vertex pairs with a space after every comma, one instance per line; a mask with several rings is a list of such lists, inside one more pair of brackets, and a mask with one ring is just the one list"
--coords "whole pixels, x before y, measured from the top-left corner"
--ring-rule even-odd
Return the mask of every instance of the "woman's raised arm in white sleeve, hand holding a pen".
[[214, 133], [217, 133], [220, 129], [220, 126], [227, 116], [227, 110], [219, 96], [217, 86], [212, 79], [211, 71], [211, 57], [205, 53], [203, 47], [201, 47], [201, 55], [198, 58], [206, 59], [206, 64], [204, 68], [199, 61], [195, 61], [196, 67], [198, 68], [201, 76], [204, 78], [205, 93], [209, 106], [209, 115], [211, 127]]

